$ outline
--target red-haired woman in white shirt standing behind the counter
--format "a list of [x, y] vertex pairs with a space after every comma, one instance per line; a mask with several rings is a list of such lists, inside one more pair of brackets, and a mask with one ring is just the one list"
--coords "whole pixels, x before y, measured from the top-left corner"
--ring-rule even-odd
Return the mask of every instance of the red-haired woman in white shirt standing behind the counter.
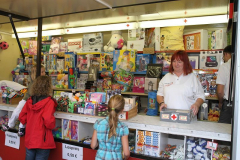
[[169, 67], [169, 73], [159, 82], [157, 101], [162, 108], [192, 110], [198, 113], [205, 100], [200, 81], [192, 73], [192, 67], [185, 51], [176, 51]]

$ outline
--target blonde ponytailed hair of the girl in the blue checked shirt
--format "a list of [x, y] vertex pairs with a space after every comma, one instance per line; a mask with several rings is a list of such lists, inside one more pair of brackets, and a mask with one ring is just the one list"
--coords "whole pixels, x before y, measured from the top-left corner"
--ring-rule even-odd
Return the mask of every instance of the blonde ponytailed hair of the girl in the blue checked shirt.
[[116, 128], [118, 124], [118, 114], [124, 109], [125, 100], [121, 95], [115, 95], [110, 98], [108, 102], [108, 113], [109, 113], [109, 133], [108, 139], [112, 136], [116, 136]]

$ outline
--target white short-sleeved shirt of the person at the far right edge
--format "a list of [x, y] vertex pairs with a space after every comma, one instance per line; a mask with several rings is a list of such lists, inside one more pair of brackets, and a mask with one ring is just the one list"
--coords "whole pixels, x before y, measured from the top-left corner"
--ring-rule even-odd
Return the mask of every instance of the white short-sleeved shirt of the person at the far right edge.
[[223, 96], [223, 98], [226, 99], [226, 100], [228, 100], [230, 67], [231, 67], [231, 59], [229, 59], [226, 63], [223, 63], [219, 67], [217, 80], [216, 80], [217, 84], [224, 85], [224, 96]]

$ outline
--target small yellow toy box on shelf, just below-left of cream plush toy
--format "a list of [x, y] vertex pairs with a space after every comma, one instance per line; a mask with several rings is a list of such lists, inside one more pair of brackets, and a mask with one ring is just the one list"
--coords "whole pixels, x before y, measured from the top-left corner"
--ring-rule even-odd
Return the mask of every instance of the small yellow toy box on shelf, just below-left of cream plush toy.
[[100, 54], [100, 71], [113, 70], [113, 53]]

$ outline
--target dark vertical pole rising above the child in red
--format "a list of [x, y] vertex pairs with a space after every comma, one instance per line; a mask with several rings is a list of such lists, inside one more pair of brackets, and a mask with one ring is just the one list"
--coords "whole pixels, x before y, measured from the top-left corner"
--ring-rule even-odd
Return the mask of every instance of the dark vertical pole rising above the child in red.
[[41, 75], [41, 52], [42, 52], [42, 18], [38, 18], [37, 77]]

